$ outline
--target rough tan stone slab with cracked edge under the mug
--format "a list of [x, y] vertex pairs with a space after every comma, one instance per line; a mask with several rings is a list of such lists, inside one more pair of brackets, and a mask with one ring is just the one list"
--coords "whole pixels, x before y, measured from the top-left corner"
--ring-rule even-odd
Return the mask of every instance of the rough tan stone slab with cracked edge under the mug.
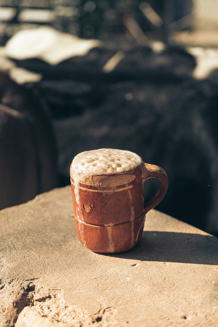
[[70, 187], [0, 212], [0, 326], [217, 326], [218, 239], [156, 210], [114, 255], [77, 240]]

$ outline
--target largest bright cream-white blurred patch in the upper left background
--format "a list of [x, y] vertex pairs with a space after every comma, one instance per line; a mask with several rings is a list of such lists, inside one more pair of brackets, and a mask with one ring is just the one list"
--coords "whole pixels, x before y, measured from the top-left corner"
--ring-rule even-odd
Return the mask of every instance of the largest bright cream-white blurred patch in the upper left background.
[[57, 65], [75, 56], [85, 56], [89, 50], [101, 44], [98, 40], [84, 40], [42, 26], [15, 33], [6, 43], [5, 54], [13, 59], [39, 58], [50, 65]]

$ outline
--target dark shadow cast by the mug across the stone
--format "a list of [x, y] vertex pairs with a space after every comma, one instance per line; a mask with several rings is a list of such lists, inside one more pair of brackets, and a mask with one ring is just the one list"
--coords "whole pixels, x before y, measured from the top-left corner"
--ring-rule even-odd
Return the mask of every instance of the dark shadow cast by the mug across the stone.
[[140, 243], [108, 256], [140, 261], [218, 265], [218, 238], [210, 235], [144, 231]]

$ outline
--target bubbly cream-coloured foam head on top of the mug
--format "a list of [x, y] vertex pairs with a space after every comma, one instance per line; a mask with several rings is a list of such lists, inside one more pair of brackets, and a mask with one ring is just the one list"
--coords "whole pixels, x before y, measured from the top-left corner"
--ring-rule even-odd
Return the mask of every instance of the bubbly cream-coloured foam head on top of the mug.
[[116, 174], [132, 170], [143, 163], [134, 152], [118, 149], [84, 151], [73, 159], [72, 174], [88, 176]]

